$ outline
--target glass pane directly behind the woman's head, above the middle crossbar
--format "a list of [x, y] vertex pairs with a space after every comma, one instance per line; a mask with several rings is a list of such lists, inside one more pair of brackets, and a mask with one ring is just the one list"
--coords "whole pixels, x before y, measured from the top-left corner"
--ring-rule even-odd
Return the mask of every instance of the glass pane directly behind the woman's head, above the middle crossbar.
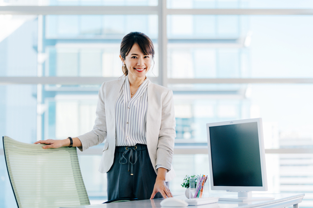
[[43, 30], [45, 76], [120, 77], [119, 47], [129, 31], [156, 43], [156, 64], [148, 75], [158, 74], [156, 15], [48, 15]]

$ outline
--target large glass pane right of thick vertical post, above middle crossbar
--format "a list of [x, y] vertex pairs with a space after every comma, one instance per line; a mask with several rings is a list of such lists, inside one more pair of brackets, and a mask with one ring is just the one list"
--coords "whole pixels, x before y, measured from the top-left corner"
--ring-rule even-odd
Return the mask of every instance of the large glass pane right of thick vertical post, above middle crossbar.
[[313, 77], [311, 16], [169, 15], [167, 20], [169, 78]]

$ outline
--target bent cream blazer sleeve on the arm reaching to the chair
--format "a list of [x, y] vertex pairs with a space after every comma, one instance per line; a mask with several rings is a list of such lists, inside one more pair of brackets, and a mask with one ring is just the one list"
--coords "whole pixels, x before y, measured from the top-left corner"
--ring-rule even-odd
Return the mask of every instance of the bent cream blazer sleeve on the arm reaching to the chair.
[[94, 126], [91, 131], [78, 136], [82, 146], [78, 147], [79, 150], [84, 151], [90, 146], [95, 146], [102, 143], [107, 136], [107, 123], [106, 123], [106, 112], [105, 112], [105, 83], [100, 87], [98, 93], [98, 104], [96, 108], [96, 119]]

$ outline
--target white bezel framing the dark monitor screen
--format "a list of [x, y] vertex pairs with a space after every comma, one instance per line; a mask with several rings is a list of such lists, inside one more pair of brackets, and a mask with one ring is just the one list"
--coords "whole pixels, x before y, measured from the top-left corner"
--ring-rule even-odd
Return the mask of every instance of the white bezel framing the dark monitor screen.
[[[263, 186], [262, 187], [214, 186], [209, 127], [221, 126], [221, 125], [245, 124], [245, 123], [252, 123], [252, 122], [257, 122], [257, 126], [258, 126], [259, 147], [260, 147], [259, 153], [260, 153], [261, 174], [262, 174], [262, 185]], [[268, 190], [262, 118], [209, 123], [209, 124], [206, 124], [206, 131], [207, 131], [207, 146], [208, 146], [210, 182], [211, 182], [210, 184], [211, 184], [212, 190], [227, 190], [227, 191], [267, 191]]]

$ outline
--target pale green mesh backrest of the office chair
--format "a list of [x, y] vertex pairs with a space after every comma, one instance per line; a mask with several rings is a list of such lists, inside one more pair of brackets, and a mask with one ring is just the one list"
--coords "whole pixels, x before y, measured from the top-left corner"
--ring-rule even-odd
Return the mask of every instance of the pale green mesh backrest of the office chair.
[[3, 137], [6, 166], [18, 207], [89, 205], [76, 148], [42, 146]]

